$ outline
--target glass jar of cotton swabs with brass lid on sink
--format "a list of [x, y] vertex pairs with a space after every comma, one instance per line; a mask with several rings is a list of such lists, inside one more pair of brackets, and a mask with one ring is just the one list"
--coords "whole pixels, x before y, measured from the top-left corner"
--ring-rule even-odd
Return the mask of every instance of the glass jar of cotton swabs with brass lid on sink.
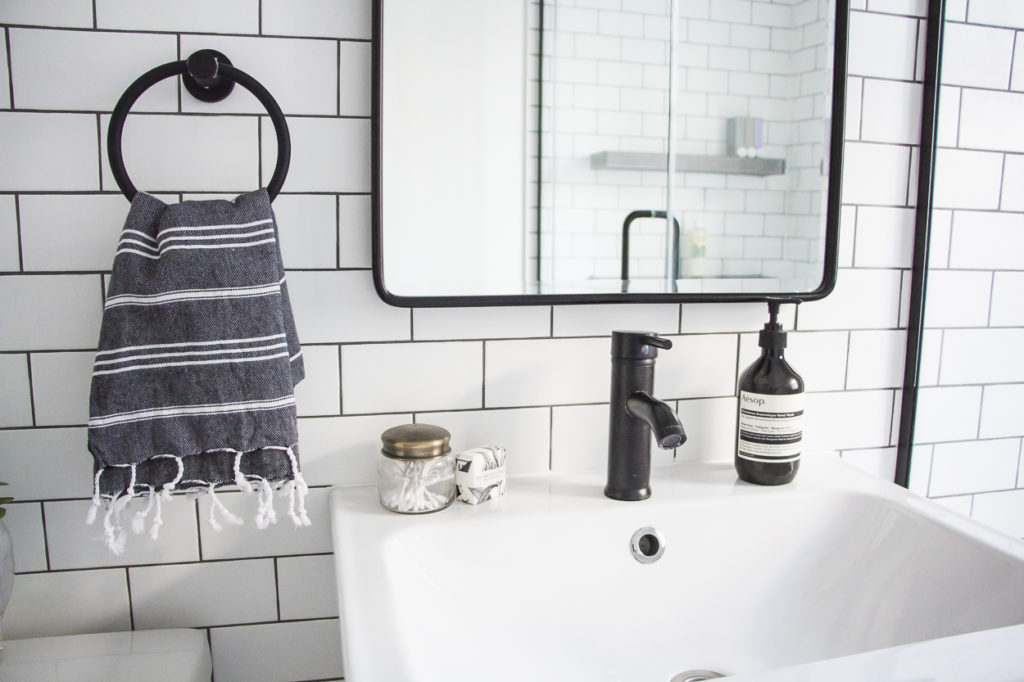
[[431, 424], [403, 424], [381, 434], [377, 491], [381, 505], [401, 514], [444, 509], [455, 500], [452, 434]]

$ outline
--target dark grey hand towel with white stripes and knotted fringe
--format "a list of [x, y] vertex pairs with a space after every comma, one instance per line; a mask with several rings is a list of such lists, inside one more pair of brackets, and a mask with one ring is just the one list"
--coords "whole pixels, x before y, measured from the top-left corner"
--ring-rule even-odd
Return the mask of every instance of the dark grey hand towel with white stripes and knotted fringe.
[[270, 200], [164, 204], [138, 193], [121, 232], [103, 306], [89, 399], [95, 460], [88, 522], [124, 551], [121, 516], [135, 497], [136, 532], [171, 491], [207, 492], [210, 523], [242, 520], [215, 488], [258, 496], [257, 526], [276, 521], [273, 492], [309, 525], [299, 471], [295, 384], [302, 380]]

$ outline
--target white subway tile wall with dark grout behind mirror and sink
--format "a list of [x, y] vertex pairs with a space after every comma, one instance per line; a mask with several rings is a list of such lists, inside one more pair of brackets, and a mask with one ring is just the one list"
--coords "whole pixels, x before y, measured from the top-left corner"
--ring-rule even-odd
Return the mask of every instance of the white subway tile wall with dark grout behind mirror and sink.
[[[998, 2], [970, 4], [970, 19], [985, 26], [953, 27], [945, 59], [952, 74], [947, 84], [955, 86], [950, 97], [963, 89], [968, 99], [987, 96], [1006, 109], [967, 108], [963, 125], [975, 127], [968, 137], [986, 146], [950, 148], [973, 156], [947, 163], [948, 170], [940, 165], [945, 186], [970, 186], [944, 200], [949, 211], [937, 221], [933, 267], [967, 282], [978, 279], [964, 290], [970, 294], [964, 305], [945, 306], [944, 316], [954, 316], [956, 328], [926, 334], [931, 359], [925, 374], [932, 386], [922, 395], [924, 444], [914, 451], [911, 487], [950, 496], [940, 499], [1024, 536], [1024, 422], [1016, 408], [1024, 399], [1017, 351], [1024, 341], [1024, 229], [1014, 213], [1020, 200], [1006, 188], [1006, 180], [1024, 174], [1024, 164], [1005, 153], [1015, 144], [1012, 136], [1001, 144], [977, 128], [1010, 116], [1016, 97], [1024, 97], [1009, 90], [1017, 82], [1012, 75], [1024, 78], [1011, 66], [1020, 25]], [[796, 330], [791, 358], [810, 391], [808, 457], [839, 452], [885, 476], [893, 470], [905, 342], [899, 311], [913, 216], [923, 5], [853, 3], [855, 116], [847, 128], [839, 288], [783, 315]], [[792, 49], [790, 37], [771, 28], [779, 17], [770, 4], [711, 0], [680, 8], [706, 41], [682, 54], [680, 65], [709, 91], [715, 83], [761, 91], [763, 79], [730, 82], [719, 65], [728, 68], [745, 51], [768, 63], [772, 49]], [[373, 482], [381, 431], [412, 421], [449, 428], [456, 447], [505, 444], [515, 473], [603, 467], [612, 329], [642, 325], [675, 343], [659, 357], [657, 388], [675, 400], [689, 433], [678, 459], [731, 456], [736, 375], [755, 349], [752, 333], [764, 322], [759, 305], [410, 311], [378, 299], [370, 272], [370, 9], [368, 0], [0, 3], [0, 35], [11, 53], [9, 70], [0, 63], [0, 477], [11, 483], [4, 492], [17, 499], [5, 522], [20, 573], [4, 619], [7, 637], [183, 625], [208, 630], [218, 682], [341, 677], [329, 486]], [[766, 31], [720, 30], [732, 26], [734, 12], [752, 11]], [[950, 3], [949, 11], [956, 20], [968, 18], [965, 2]], [[662, 58], [647, 41], [664, 38], [664, 27], [638, 22], [623, 0], [607, 0], [597, 12], [567, 11], [558, 20], [594, 15], [603, 29], [615, 28], [628, 39], [622, 48], [636, 58]], [[84, 428], [87, 369], [98, 337], [103, 275], [128, 209], [102, 158], [105, 126], [133, 78], [205, 46], [227, 51], [268, 84], [291, 115], [292, 171], [274, 208], [299, 334], [307, 344], [309, 377], [298, 399], [314, 525], [295, 530], [279, 523], [260, 531], [250, 522], [218, 534], [205, 521], [209, 501], [176, 497], [164, 508], [159, 543], [133, 538], [128, 553], [114, 557], [94, 539], [95, 528], [81, 521], [92, 473]], [[600, 42], [577, 48], [597, 56], [609, 49]], [[129, 66], [115, 58], [125, 50], [133, 54]], [[6, 52], [0, 50], [0, 58]], [[68, 70], [50, 69], [41, 54]], [[649, 111], [663, 111], [662, 104], [636, 90], [664, 80], [664, 69], [614, 69], [601, 59], [600, 69], [588, 71], [573, 55], [561, 56], [560, 68], [579, 72], [575, 95], [584, 100], [635, 89], [624, 118], [607, 125], [664, 129], [664, 117]], [[303, 79], [287, 77], [287, 65], [295, 61], [308, 62]], [[73, 77], [79, 72], [90, 75], [88, 87], [81, 82], [86, 79]], [[174, 193], [166, 201], [266, 182], [274, 136], [265, 116], [256, 122], [252, 100], [239, 92], [220, 104], [199, 104], [179, 91], [173, 81], [155, 87], [135, 108], [143, 113], [129, 117], [124, 142], [132, 179], [150, 191]], [[728, 100], [710, 94], [700, 104], [683, 116], [717, 139]], [[951, 147], [959, 106], [943, 111], [957, 116], [943, 120], [943, 140]], [[197, 116], [214, 112], [221, 115]], [[749, 213], [773, 210], [770, 193], [758, 187], [711, 176], [695, 180], [711, 203], [738, 197]], [[760, 223], [742, 215], [720, 222], [709, 217], [703, 227], [723, 235], [757, 231]], [[768, 221], [764, 228], [758, 236], [771, 238]], [[767, 253], [774, 245], [762, 241], [756, 248]], [[984, 282], [990, 283], [987, 294]], [[988, 356], [980, 356], [979, 344]], [[979, 436], [994, 444], [978, 451], [958, 444]], [[657, 463], [672, 461], [671, 453], [655, 454]], [[224, 493], [221, 499], [252, 517], [250, 497]]]

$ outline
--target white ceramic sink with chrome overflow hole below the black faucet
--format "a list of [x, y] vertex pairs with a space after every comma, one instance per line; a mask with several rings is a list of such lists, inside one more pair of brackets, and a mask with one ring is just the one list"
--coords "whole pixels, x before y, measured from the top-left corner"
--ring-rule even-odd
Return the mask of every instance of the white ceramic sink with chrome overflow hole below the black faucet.
[[[651, 481], [650, 500], [615, 502], [603, 472], [517, 477], [423, 516], [333, 491], [345, 679], [812, 679], [802, 664], [997, 628], [970, 642], [1024, 676], [1024, 543], [831, 457], [781, 487], [731, 463]], [[645, 526], [664, 549], [650, 563], [631, 547]], [[879, 655], [859, 679], [887, 679]]]

